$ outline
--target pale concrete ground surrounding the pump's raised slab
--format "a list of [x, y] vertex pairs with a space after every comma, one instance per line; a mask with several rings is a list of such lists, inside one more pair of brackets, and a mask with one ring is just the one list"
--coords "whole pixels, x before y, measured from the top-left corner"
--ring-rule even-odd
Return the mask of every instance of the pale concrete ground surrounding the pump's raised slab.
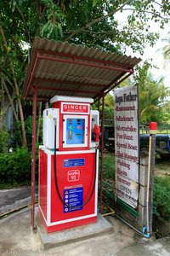
[[170, 237], [148, 240], [116, 217], [106, 219], [112, 224], [111, 234], [43, 250], [39, 235], [31, 230], [29, 207], [0, 219], [0, 256], [170, 256]]

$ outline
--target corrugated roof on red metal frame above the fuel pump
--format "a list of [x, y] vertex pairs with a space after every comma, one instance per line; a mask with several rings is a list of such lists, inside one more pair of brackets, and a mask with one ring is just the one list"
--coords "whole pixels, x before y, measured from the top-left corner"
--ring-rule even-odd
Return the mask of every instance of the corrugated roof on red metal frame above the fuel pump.
[[49, 101], [54, 95], [97, 98], [111, 90], [141, 59], [100, 49], [35, 38], [22, 95]]

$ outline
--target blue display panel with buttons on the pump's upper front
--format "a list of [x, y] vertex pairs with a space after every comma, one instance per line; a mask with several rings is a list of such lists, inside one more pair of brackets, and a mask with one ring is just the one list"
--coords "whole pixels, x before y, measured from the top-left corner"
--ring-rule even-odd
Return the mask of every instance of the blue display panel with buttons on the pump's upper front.
[[66, 119], [66, 144], [84, 143], [84, 119]]

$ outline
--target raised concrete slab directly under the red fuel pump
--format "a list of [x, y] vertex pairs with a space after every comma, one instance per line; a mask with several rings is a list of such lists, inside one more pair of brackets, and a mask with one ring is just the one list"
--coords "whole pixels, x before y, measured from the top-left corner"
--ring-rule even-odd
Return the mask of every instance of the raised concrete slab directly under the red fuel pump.
[[43, 249], [105, 235], [111, 233], [113, 229], [112, 225], [99, 213], [97, 223], [79, 226], [69, 230], [60, 230], [50, 234], [46, 232], [38, 212], [36, 213], [36, 223]]

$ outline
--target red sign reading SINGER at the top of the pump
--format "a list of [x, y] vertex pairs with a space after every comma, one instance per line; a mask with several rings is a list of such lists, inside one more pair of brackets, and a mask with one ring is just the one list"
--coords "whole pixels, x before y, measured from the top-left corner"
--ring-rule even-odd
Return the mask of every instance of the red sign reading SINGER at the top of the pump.
[[67, 102], [61, 104], [61, 113], [89, 113], [89, 104]]

